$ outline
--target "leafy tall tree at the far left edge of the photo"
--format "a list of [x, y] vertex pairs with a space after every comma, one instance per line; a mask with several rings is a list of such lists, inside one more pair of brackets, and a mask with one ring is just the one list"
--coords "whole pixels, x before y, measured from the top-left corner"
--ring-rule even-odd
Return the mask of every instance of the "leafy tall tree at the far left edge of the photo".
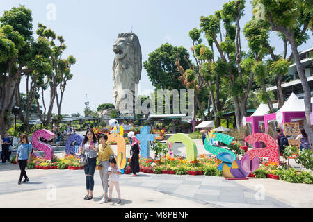
[[3, 12], [0, 22], [0, 134], [3, 135], [19, 82], [24, 74], [33, 71], [29, 62], [35, 65], [38, 62], [35, 56], [39, 55], [34, 49], [31, 10], [25, 6], [13, 7]]

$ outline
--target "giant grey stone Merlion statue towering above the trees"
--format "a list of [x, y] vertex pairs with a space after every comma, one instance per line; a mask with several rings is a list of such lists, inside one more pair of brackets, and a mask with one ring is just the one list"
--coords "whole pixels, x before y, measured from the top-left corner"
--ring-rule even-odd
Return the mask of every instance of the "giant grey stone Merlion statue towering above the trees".
[[[139, 39], [134, 33], [118, 34], [118, 39], [113, 44], [115, 53], [113, 63], [113, 98], [116, 110], [124, 110], [121, 102], [127, 97], [128, 89], [133, 96], [133, 112], [137, 95], [136, 87], [141, 79], [142, 56]], [[131, 96], [131, 95], [129, 95]], [[126, 102], [125, 102], [126, 103]]]

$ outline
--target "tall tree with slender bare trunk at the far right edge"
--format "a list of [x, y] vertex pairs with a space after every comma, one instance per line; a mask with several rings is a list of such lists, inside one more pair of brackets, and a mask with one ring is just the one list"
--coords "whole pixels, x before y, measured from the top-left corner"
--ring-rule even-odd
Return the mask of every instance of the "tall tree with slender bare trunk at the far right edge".
[[[271, 30], [278, 31], [286, 37], [290, 46], [298, 75], [304, 91], [305, 117], [310, 124], [311, 90], [301, 65], [298, 46], [306, 42], [307, 30], [312, 30], [313, 4], [306, 0], [254, 0], [255, 13], [261, 13], [271, 25]], [[260, 7], [262, 6], [262, 7]]]

